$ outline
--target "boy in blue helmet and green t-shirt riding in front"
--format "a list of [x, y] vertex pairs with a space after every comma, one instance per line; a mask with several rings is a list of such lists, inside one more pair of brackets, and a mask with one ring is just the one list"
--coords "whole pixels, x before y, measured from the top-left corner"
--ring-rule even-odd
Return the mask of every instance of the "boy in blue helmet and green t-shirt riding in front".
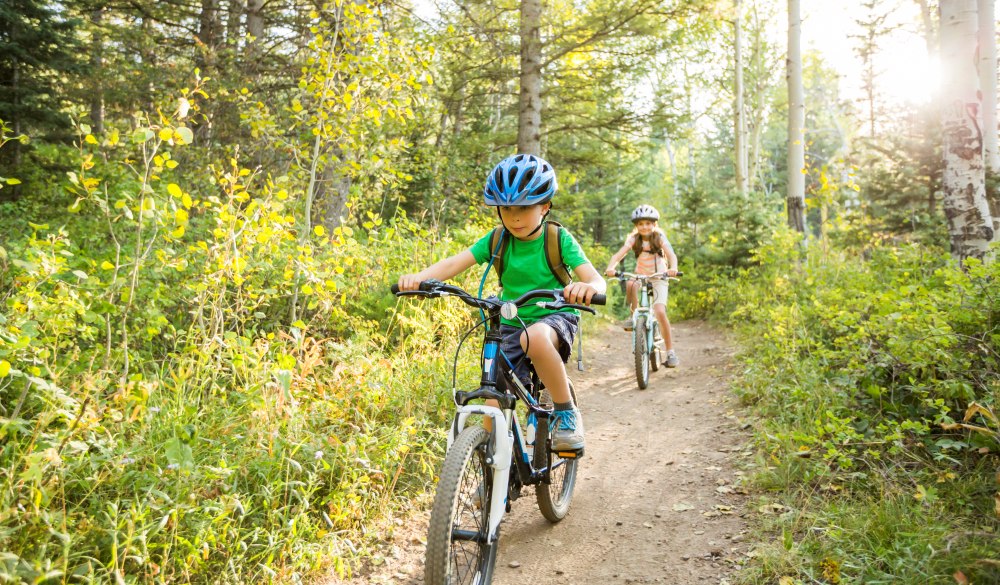
[[[552, 208], [552, 197], [558, 188], [555, 171], [540, 157], [517, 154], [501, 161], [486, 178], [483, 198], [486, 205], [497, 208], [502, 230], [486, 234], [468, 250], [439, 260], [415, 274], [399, 277], [399, 289], [417, 290], [429, 280], [448, 280], [473, 264], [494, 263], [500, 277], [500, 299], [516, 299], [533, 289], [563, 288], [569, 303], [589, 305], [595, 294], [604, 294], [607, 285], [587, 260], [580, 244], [570, 233], [545, 221]], [[549, 234], [558, 239], [560, 266], [553, 266], [546, 249]], [[543, 237], [544, 235], [544, 237]], [[491, 244], [496, 240], [496, 243]], [[563, 284], [557, 275], [562, 265], [579, 279]], [[518, 312], [525, 328], [518, 321], [502, 319], [500, 332], [503, 350], [512, 364], [522, 362], [522, 356], [534, 364], [539, 380], [549, 390], [555, 412], [550, 429], [553, 450], [583, 449], [583, 420], [573, 404], [564, 363], [569, 359], [573, 338], [577, 334], [579, 312], [573, 309], [554, 311], [538, 306], [525, 306]], [[527, 364], [521, 363], [519, 377], [528, 383]], [[487, 404], [495, 401], [487, 401]]]

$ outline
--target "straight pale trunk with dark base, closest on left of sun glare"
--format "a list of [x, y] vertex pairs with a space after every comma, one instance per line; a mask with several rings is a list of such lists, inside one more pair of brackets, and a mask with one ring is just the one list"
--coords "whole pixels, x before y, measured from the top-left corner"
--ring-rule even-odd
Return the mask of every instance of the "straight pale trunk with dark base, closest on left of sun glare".
[[802, 89], [802, 17], [799, 0], [788, 0], [788, 225], [806, 231], [805, 120]]

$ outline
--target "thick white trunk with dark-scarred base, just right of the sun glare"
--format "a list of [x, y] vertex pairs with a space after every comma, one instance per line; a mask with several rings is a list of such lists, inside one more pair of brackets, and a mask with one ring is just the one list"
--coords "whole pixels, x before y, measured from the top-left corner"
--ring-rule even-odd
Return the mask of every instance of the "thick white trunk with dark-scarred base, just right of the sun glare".
[[976, 0], [941, 1], [941, 59], [945, 78], [944, 213], [951, 253], [958, 260], [986, 258], [993, 221], [986, 203], [982, 102], [976, 63]]

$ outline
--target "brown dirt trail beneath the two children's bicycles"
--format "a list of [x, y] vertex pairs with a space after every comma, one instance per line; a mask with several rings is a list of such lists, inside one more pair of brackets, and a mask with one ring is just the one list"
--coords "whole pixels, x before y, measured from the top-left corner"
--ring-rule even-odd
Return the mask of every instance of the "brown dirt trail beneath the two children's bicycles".
[[[601, 324], [567, 365], [587, 432], [572, 508], [550, 524], [531, 488], [501, 525], [496, 585], [727, 585], [748, 543], [740, 467], [750, 456], [729, 391], [734, 349], [706, 323], [673, 326], [680, 367], [636, 384], [630, 334]], [[423, 583], [430, 501], [389, 527], [372, 566], [320, 585]]]

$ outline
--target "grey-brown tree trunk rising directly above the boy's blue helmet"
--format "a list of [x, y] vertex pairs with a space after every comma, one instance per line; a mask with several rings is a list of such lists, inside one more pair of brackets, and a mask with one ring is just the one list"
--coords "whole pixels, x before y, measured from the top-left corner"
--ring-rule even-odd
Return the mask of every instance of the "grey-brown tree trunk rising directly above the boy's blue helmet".
[[521, 0], [521, 100], [517, 151], [540, 155], [542, 128], [541, 0]]

